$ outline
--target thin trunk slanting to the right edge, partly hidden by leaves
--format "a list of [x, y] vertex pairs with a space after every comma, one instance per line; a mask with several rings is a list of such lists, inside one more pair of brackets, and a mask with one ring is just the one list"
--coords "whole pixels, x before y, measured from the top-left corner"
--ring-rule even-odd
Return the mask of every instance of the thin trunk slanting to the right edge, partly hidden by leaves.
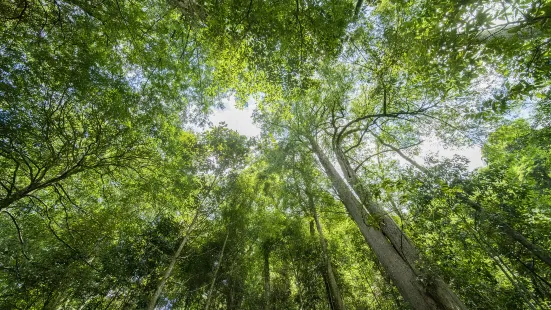
[[[419, 163], [417, 163], [415, 160], [411, 159], [409, 156], [404, 154], [400, 149], [394, 147], [391, 144], [385, 143], [380, 137], [373, 135], [381, 144], [384, 146], [390, 148], [396, 154], [398, 154], [400, 157], [402, 157], [404, 160], [409, 162], [412, 166], [417, 168], [419, 171], [424, 173], [427, 176], [431, 176], [431, 173], [427, 168], [423, 167]], [[456, 195], [460, 200], [462, 200], [464, 203], [466, 203], [468, 206], [476, 210], [477, 212], [480, 212], [485, 218], [487, 218], [497, 229], [501, 230], [506, 236], [511, 238], [514, 241], [517, 241], [522, 246], [524, 246], [528, 251], [532, 252], [536, 257], [538, 257], [542, 262], [547, 264], [547, 266], [551, 267], [551, 254], [543, 249], [540, 246], [537, 246], [530, 242], [526, 237], [524, 237], [523, 234], [519, 233], [517, 230], [515, 230], [513, 227], [511, 227], [509, 224], [507, 224], [504, 220], [499, 218], [496, 214], [489, 214], [479, 203], [472, 201], [467, 197], [466, 195], [463, 195], [461, 193]]]

